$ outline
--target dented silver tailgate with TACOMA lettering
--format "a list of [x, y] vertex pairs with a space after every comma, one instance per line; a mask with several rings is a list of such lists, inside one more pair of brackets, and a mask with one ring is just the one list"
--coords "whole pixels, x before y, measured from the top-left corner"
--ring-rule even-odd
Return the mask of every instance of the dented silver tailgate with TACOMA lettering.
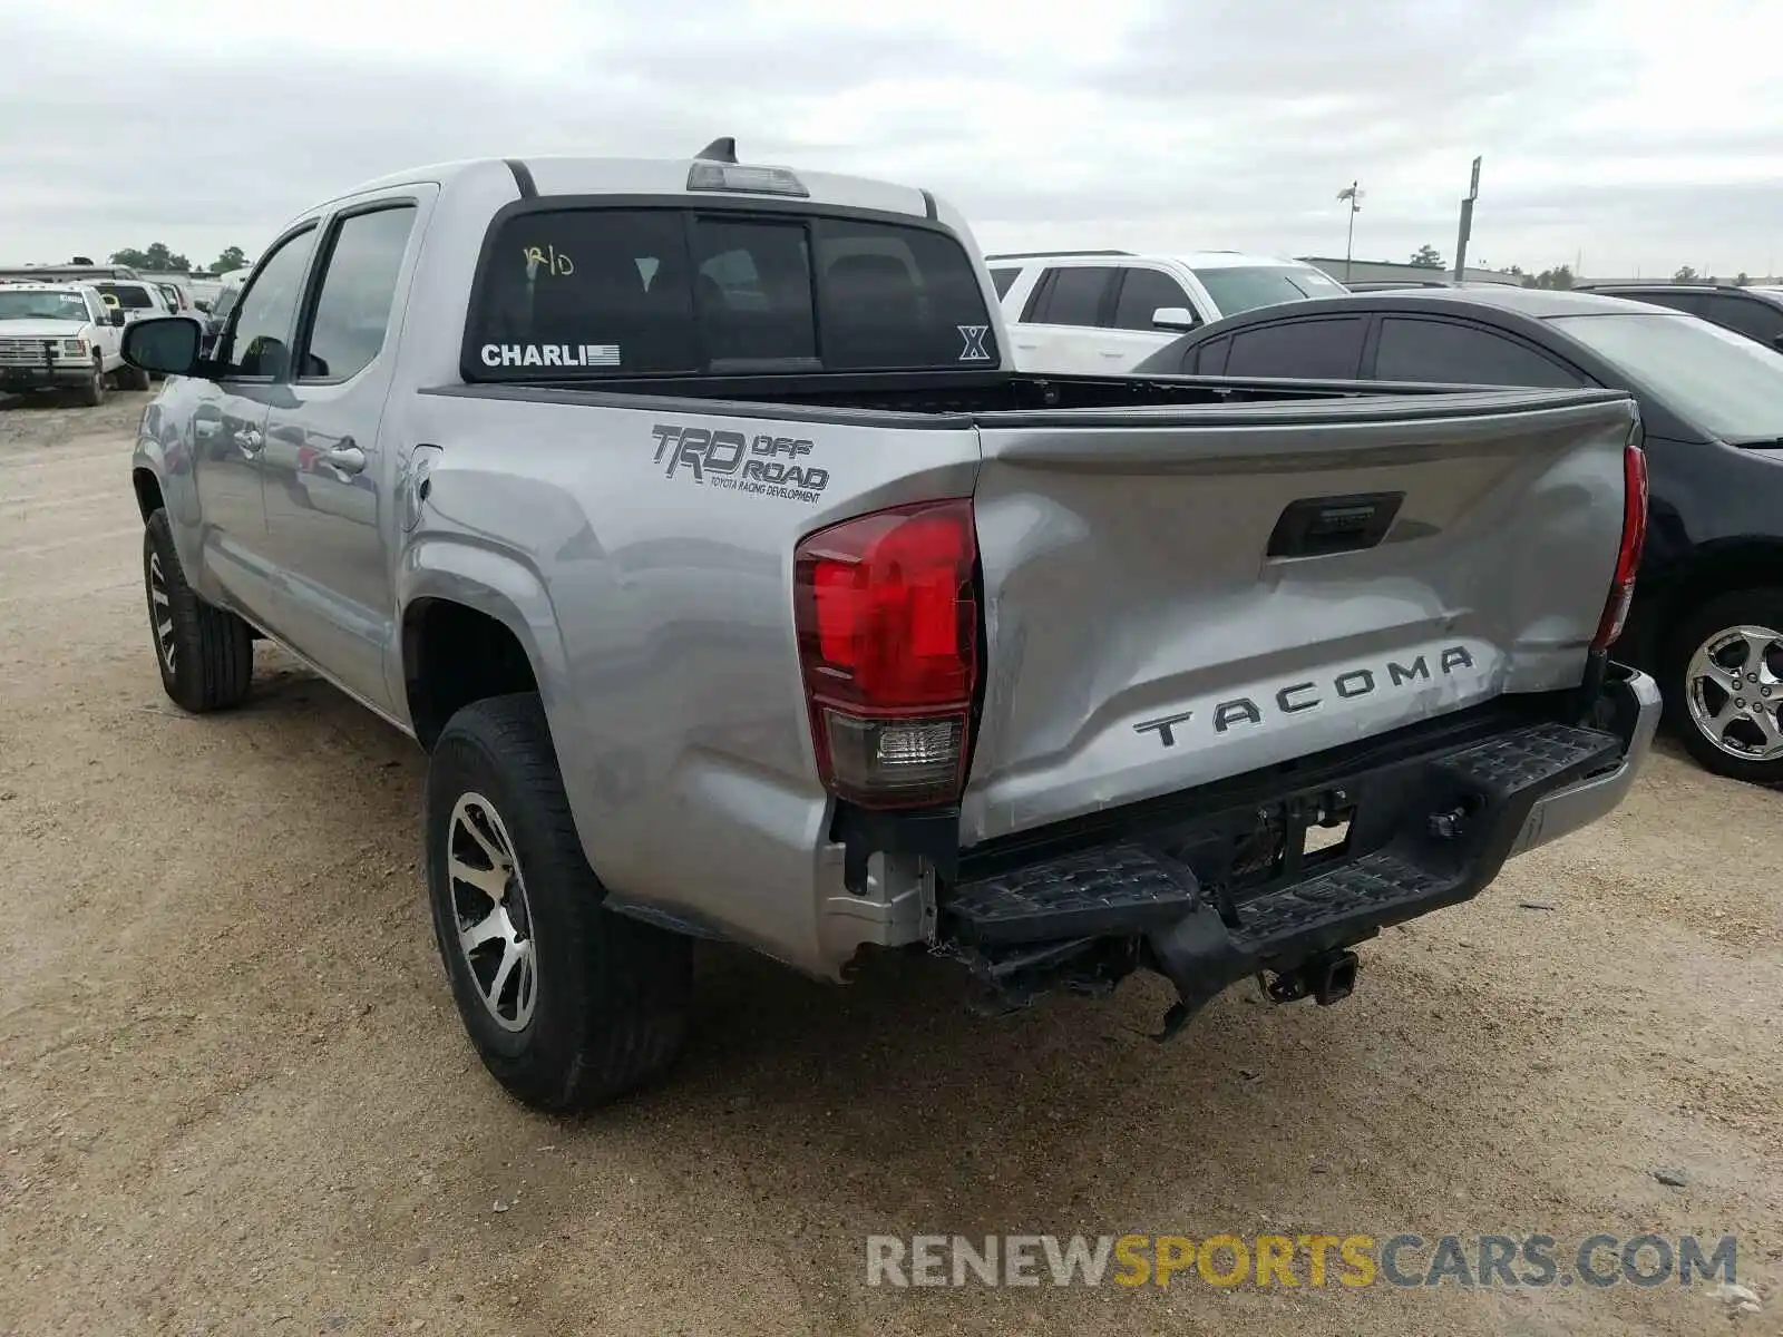
[[981, 415], [965, 843], [1576, 685], [1635, 424], [1598, 390]]

